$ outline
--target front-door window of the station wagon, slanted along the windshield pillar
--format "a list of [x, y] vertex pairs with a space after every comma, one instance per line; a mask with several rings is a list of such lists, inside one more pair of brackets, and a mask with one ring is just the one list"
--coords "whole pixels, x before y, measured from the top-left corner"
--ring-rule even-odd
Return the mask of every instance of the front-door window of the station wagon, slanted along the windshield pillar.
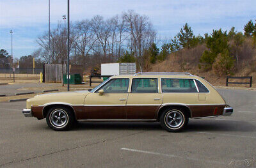
[[103, 89], [104, 93], [127, 93], [128, 86], [129, 79], [111, 79], [101, 86], [96, 92]]

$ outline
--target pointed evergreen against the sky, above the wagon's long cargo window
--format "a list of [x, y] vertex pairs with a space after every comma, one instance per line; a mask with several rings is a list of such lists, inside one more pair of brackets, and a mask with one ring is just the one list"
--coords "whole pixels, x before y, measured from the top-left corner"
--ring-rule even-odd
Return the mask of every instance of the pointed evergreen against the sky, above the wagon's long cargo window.
[[191, 30], [191, 27], [188, 26], [188, 23], [186, 23], [183, 26], [183, 29], [180, 29], [180, 32], [177, 34], [177, 37], [179, 38], [180, 45], [182, 47], [191, 47], [191, 40], [193, 39], [193, 31]]

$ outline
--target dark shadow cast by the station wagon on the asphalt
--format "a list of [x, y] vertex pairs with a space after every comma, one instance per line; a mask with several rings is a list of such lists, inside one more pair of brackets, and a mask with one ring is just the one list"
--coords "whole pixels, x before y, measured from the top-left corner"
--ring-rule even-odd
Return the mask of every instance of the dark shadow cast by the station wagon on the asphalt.
[[[72, 130], [163, 130], [163, 128], [158, 122], [79, 122]], [[186, 131], [256, 132], [256, 126], [246, 121], [191, 119], [184, 132]]]

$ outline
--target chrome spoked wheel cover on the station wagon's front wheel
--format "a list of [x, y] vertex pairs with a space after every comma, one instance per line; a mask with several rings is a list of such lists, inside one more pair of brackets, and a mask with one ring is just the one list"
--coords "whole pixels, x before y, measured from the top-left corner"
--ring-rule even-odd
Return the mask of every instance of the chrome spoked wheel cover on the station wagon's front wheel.
[[54, 127], [62, 128], [68, 123], [68, 114], [62, 109], [56, 109], [51, 112], [50, 121]]

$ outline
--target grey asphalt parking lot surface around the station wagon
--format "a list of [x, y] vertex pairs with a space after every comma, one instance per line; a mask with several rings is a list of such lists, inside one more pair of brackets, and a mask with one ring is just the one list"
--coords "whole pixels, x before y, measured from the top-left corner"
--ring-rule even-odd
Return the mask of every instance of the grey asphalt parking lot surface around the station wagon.
[[234, 114], [190, 119], [179, 133], [132, 122], [55, 132], [24, 118], [26, 102], [1, 102], [0, 167], [256, 167], [256, 91], [219, 91]]

